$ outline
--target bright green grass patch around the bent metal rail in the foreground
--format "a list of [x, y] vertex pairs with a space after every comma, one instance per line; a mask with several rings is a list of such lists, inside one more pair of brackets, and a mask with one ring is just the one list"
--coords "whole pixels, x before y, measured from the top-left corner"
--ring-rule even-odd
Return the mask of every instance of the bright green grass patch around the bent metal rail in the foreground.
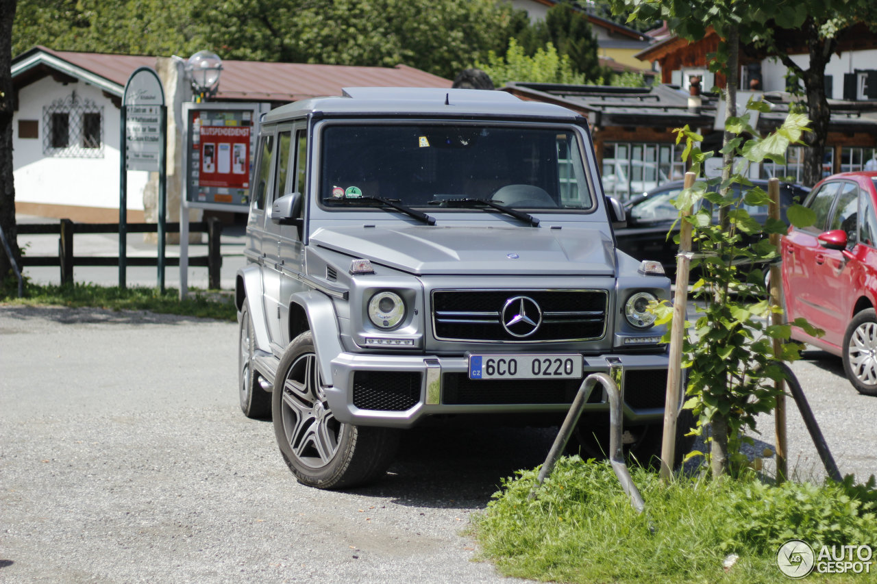
[[[677, 477], [665, 486], [642, 468], [631, 474], [645, 499], [641, 515], [606, 462], [561, 459], [532, 500], [537, 471], [519, 471], [474, 518], [483, 559], [505, 575], [558, 582], [785, 582], [775, 554], [789, 538], [874, 545], [877, 493], [873, 484], [852, 486], [852, 477], [780, 488], [752, 477]], [[725, 570], [731, 553], [738, 559]], [[877, 574], [807, 580], [866, 582]]]

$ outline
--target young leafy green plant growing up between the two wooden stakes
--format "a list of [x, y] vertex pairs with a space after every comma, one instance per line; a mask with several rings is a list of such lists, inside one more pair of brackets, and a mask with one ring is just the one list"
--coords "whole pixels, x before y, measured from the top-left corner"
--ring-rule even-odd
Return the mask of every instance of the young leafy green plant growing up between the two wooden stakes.
[[[766, 103], [751, 103], [750, 107], [769, 110]], [[782, 345], [783, 353], [774, 357], [773, 339], [788, 340], [790, 324], [770, 324], [771, 314], [782, 309], [767, 296], [764, 274], [746, 267], [775, 260], [779, 250], [766, 236], [784, 233], [787, 226], [769, 218], [765, 224], [759, 224], [745, 210], [745, 205], [770, 203], [763, 189], [754, 187], [740, 198], [727, 187], [752, 186], [745, 179], [748, 166], [766, 158], [781, 158], [789, 145], [798, 143], [807, 124], [806, 116], [790, 113], [776, 132], [762, 139], [749, 125], [748, 116], [729, 118], [725, 127], [733, 138], [724, 149], [746, 160], [746, 165], [735, 167], [735, 172], [724, 181], [696, 182], [693, 188], [684, 189], [676, 201], [680, 210], [689, 206], [695, 209], [693, 215], [681, 220], [692, 225], [694, 249], [698, 252], [692, 267], [700, 267], [702, 274], [692, 287], [695, 298], [702, 301], [696, 309], [694, 332], [682, 342], [683, 366], [690, 367], [685, 407], [694, 411], [698, 431], [707, 424], [711, 428], [709, 462], [715, 477], [727, 473], [729, 468], [737, 471], [745, 465], [747, 460], [740, 453], [740, 446], [752, 443], [751, 438], [745, 437], [745, 431], [755, 428], [759, 413], [774, 409], [779, 395], [773, 385], [783, 378], [777, 361], [798, 359], [803, 346], [786, 343]], [[688, 126], [677, 132], [678, 139], [686, 142], [683, 158], [692, 160], [692, 171], [699, 173], [703, 161], [712, 153], [700, 151], [696, 144], [703, 138]], [[719, 217], [727, 217], [726, 222], [716, 219], [715, 209], [721, 211]], [[812, 224], [815, 215], [795, 204], [788, 209], [788, 218], [802, 227]], [[750, 243], [752, 239], [755, 244]], [[673, 317], [673, 308], [668, 303], [656, 312], [660, 323]], [[809, 334], [817, 333], [801, 318], [794, 324]]]

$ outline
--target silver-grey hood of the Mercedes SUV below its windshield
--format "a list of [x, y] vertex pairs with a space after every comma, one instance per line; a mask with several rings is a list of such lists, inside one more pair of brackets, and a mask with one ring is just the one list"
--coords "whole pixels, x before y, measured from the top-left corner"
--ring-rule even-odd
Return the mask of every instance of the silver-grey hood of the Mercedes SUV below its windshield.
[[615, 248], [597, 229], [334, 227], [310, 245], [410, 274], [614, 275]]

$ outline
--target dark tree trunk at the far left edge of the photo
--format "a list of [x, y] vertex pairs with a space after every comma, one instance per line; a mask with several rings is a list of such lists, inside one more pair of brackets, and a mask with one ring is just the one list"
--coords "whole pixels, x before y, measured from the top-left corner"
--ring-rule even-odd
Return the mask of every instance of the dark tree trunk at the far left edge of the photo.
[[[18, 262], [18, 230], [15, 224], [15, 184], [12, 177], [12, 20], [17, 0], [0, 0], [0, 227]], [[0, 282], [10, 273], [11, 263], [0, 246]]]

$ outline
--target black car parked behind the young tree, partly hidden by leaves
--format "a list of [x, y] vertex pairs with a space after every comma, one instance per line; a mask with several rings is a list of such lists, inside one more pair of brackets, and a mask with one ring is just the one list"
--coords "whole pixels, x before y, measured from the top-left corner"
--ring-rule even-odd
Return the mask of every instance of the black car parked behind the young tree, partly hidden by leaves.
[[[754, 186], [767, 190], [766, 180], [752, 180]], [[741, 188], [743, 191], [741, 191]], [[710, 186], [710, 189], [717, 189]], [[751, 189], [748, 186], [734, 185], [733, 189], [740, 196], [741, 192]], [[674, 234], [679, 231], [679, 224], [674, 222], [679, 217], [679, 210], [671, 203], [682, 190], [681, 181], [665, 182], [643, 195], [636, 196], [625, 204], [627, 226], [615, 230], [618, 248], [637, 260], [658, 260], [667, 274], [676, 272], [676, 254], [679, 245], [673, 237], [667, 237], [667, 231], [674, 227]], [[786, 210], [793, 202], [802, 203], [810, 189], [791, 182], [780, 183], [780, 218], [788, 224]], [[709, 204], [706, 202], [706, 204]], [[752, 217], [764, 223], [767, 217], [767, 206], [743, 204], [742, 208], [749, 211]]]

